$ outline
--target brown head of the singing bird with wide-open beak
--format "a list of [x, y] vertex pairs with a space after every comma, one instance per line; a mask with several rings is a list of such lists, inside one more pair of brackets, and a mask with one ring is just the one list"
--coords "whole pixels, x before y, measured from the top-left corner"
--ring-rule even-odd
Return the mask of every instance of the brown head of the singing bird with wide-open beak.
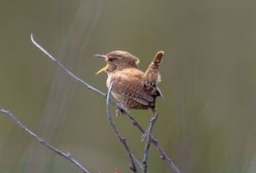
[[139, 62], [136, 56], [121, 50], [112, 51], [106, 55], [96, 54], [95, 57], [103, 58], [107, 63], [105, 67], [97, 72], [97, 75], [101, 72], [112, 73], [115, 70], [137, 68]]

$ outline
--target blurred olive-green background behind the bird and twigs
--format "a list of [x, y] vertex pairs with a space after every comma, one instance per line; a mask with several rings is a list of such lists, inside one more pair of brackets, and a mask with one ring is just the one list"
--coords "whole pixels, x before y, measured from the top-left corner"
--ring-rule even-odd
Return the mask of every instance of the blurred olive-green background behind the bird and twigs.
[[[145, 70], [164, 50], [154, 135], [184, 173], [256, 172], [256, 2], [250, 0], [1, 0], [0, 106], [92, 172], [129, 172], [105, 99], [30, 43], [33, 32], [77, 76], [106, 92], [96, 53], [127, 50]], [[146, 127], [150, 112], [134, 111]], [[114, 118], [137, 158], [144, 144]], [[80, 172], [0, 118], [0, 172]], [[172, 173], [150, 152], [149, 172]]]

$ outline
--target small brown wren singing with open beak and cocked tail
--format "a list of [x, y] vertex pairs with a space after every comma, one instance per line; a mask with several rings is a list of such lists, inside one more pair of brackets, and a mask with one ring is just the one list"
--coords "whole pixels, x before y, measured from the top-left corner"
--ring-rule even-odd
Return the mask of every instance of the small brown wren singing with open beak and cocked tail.
[[121, 105], [121, 108], [117, 107], [117, 116], [130, 109], [152, 109], [155, 114], [155, 98], [161, 95], [157, 84], [160, 81], [159, 63], [163, 55], [163, 51], [158, 51], [145, 73], [138, 69], [137, 57], [128, 52], [117, 50], [106, 55], [95, 55], [107, 63], [97, 74], [106, 72], [107, 87], [112, 83], [111, 94]]

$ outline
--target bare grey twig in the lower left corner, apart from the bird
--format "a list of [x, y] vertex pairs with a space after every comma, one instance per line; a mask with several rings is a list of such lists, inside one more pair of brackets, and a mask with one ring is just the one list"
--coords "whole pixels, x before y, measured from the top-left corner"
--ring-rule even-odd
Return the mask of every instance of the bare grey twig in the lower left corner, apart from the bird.
[[25, 130], [29, 135], [34, 137], [42, 146], [49, 148], [53, 152], [61, 155], [66, 159], [67, 161], [71, 162], [72, 164], [75, 164], [77, 167], [79, 167], [83, 173], [90, 173], [82, 164], [80, 164], [75, 158], [72, 157], [72, 155], [69, 152], [64, 152], [58, 149], [57, 147], [53, 147], [50, 144], [48, 144], [43, 138], [39, 137], [36, 133], [33, 131], [29, 130], [22, 122], [20, 122], [16, 116], [9, 112], [9, 110], [6, 109], [0, 109], [0, 112], [4, 113], [7, 115], [12, 121], [14, 121], [22, 130]]

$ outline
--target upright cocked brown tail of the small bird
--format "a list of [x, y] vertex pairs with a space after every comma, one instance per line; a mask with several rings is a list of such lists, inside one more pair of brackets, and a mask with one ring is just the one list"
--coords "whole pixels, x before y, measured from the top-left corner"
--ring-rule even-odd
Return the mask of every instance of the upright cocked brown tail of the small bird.
[[155, 58], [151, 62], [147, 71], [145, 72], [144, 78], [146, 83], [150, 85], [156, 85], [160, 81], [159, 65], [163, 58], [164, 51], [158, 51], [155, 54]]

